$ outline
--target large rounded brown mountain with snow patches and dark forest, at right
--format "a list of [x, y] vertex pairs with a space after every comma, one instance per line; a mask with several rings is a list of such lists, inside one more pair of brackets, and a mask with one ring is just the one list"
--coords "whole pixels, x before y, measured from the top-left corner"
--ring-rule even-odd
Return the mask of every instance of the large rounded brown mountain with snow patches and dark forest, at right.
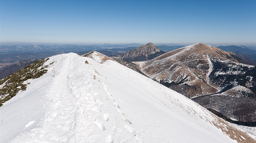
[[[238, 63], [238, 60], [239, 57], [232, 52], [198, 43], [140, 62], [139, 65], [153, 80], [206, 108], [229, 118], [255, 122], [256, 66]], [[241, 97], [244, 100], [240, 102]], [[245, 106], [244, 101], [250, 105]], [[241, 111], [249, 114], [242, 114]]]

